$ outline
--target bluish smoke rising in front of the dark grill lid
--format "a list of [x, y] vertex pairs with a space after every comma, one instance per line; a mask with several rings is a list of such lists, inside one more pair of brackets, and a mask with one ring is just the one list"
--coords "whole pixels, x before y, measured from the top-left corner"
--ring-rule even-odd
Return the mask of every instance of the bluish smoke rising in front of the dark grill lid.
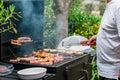
[[32, 43], [24, 43], [18, 52], [31, 53], [43, 47], [44, 0], [18, 0], [16, 9], [22, 13], [22, 19], [17, 24], [18, 36], [28, 36]]

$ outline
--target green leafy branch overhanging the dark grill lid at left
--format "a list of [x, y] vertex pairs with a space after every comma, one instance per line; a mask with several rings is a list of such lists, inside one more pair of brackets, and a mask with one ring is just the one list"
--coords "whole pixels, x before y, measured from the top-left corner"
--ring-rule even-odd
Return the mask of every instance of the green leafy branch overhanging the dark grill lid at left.
[[20, 12], [15, 12], [15, 6], [9, 5], [4, 7], [4, 0], [0, 0], [0, 33], [10, 31], [17, 33], [14, 20], [18, 21], [21, 18]]

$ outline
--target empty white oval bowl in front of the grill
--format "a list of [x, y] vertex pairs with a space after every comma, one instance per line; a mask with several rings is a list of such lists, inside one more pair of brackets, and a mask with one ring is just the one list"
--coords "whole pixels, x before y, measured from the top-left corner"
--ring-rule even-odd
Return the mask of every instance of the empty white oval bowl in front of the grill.
[[45, 76], [47, 69], [43, 67], [33, 67], [22, 69], [17, 72], [18, 76], [24, 80], [38, 79]]

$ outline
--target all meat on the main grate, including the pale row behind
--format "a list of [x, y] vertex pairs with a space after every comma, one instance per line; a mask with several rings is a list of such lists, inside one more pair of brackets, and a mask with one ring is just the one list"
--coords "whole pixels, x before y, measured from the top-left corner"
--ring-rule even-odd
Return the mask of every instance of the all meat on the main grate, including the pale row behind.
[[[60, 55], [59, 53], [63, 53]], [[45, 49], [44, 51], [38, 50], [32, 55], [25, 57], [18, 57], [17, 59], [11, 59], [10, 62], [27, 62], [31, 64], [41, 64], [41, 65], [52, 65], [54, 63], [63, 61], [65, 58], [72, 58], [71, 55], [64, 56], [65, 53], [81, 55], [83, 52], [76, 51], [66, 51], [66, 50], [55, 50], [55, 49]]]

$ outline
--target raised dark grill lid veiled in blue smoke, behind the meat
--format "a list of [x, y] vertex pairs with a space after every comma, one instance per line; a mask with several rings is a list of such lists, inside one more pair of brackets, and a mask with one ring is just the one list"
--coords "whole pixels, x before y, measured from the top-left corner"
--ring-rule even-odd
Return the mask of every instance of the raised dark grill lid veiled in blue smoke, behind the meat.
[[21, 12], [22, 18], [19, 21], [14, 21], [18, 30], [17, 34], [6, 32], [1, 35], [1, 44], [16, 39], [17, 37], [31, 37], [33, 42], [23, 43], [22, 46], [2, 46], [2, 57], [23, 56], [31, 54], [37, 49], [43, 47], [43, 27], [44, 27], [44, 0], [4, 0], [5, 6], [15, 5], [15, 10]]

